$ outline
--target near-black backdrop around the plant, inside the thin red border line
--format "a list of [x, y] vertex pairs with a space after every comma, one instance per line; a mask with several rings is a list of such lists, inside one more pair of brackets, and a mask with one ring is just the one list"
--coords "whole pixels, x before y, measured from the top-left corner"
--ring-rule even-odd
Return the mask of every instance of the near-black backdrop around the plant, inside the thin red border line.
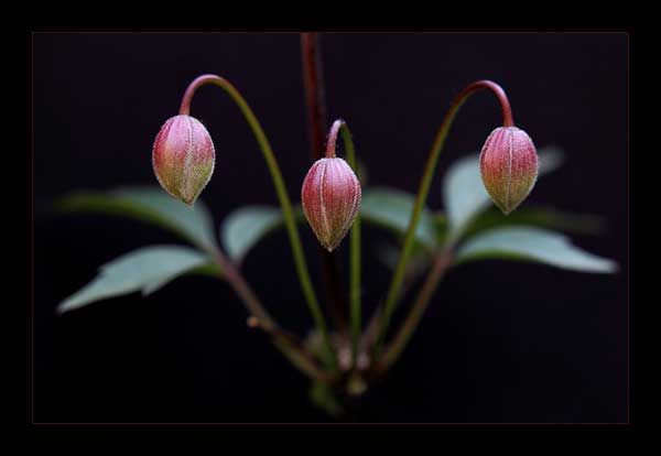
[[[327, 109], [351, 128], [369, 185], [415, 192], [436, 128], [468, 83], [501, 84], [514, 120], [564, 166], [527, 204], [600, 215], [600, 236], [573, 236], [616, 260], [617, 274], [517, 262], [453, 270], [387, 383], [358, 419], [378, 422], [626, 422], [628, 36], [554, 34], [325, 34]], [[159, 228], [102, 216], [53, 216], [76, 188], [153, 184], [151, 146], [195, 76], [227, 77], [262, 122], [297, 202], [311, 165], [296, 34], [63, 34], [33, 37], [34, 420], [36, 422], [326, 421], [306, 380], [259, 333], [231, 290], [183, 278], [148, 298], [108, 300], [55, 317], [97, 267], [151, 243]], [[216, 144], [202, 198], [216, 221], [246, 204], [277, 204], [259, 149], [231, 100], [199, 90], [193, 115]], [[329, 120], [330, 120], [329, 119]], [[499, 108], [480, 94], [462, 110], [441, 158], [480, 149]], [[429, 206], [442, 207], [441, 178]], [[321, 285], [316, 241], [301, 230]], [[365, 301], [390, 273], [365, 228]], [[346, 248], [340, 254], [346, 260]], [[245, 274], [285, 327], [311, 319], [284, 232], [248, 256]], [[317, 287], [318, 290], [318, 287]]]

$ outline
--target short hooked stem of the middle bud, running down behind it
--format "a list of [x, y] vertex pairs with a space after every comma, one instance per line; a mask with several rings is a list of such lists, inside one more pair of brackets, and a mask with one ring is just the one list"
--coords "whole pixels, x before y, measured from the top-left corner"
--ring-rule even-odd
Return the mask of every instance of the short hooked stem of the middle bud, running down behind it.
[[[342, 132], [342, 140], [345, 144], [347, 163], [356, 175], [358, 175], [358, 163], [356, 161], [356, 148], [351, 139], [351, 132], [344, 120], [336, 120], [330, 127], [328, 133], [328, 143], [326, 145], [326, 158], [335, 156], [335, 145], [337, 134]], [[360, 214], [356, 215], [354, 225], [351, 225], [350, 245], [349, 245], [349, 301], [350, 301], [350, 333], [351, 333], [351, 365], [356, 367], [358, 358], [358, 345], [360, 341]]]

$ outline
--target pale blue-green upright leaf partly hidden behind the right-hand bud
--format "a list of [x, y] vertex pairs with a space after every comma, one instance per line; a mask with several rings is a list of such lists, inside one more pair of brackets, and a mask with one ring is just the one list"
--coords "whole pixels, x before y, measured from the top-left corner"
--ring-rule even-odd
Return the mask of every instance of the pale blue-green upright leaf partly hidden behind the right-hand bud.
[[[538, 156], [540, 176], [562, 164], [562, 151], [555, 146], [540, 149]], [[451, 236], [458, 237], [467, 224], [491, 203], [481, 181], [479, 154], [462, 158], [452, 164], [443, 181], [443, 198]]]

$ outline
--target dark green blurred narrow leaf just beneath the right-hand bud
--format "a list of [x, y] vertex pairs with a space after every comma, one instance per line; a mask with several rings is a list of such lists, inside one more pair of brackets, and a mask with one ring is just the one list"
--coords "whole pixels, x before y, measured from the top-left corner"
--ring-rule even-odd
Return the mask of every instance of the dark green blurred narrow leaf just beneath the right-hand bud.
[[477, 232], [508, 225], [532, 225], [566, 232], [597, 235], [603, 232], [605, 221], [599, 216], [567, 214], [545, 207], [520, 207], [506, 216], [498, 208], [491, 207], [468, 222], [463, 237], [470, 238]]

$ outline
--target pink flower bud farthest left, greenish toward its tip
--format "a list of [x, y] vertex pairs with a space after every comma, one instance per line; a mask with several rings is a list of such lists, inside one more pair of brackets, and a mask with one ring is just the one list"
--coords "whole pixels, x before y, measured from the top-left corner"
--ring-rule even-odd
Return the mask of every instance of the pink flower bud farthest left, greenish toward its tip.
[[165, 192], [193, 205], [212, 178], [215, 156], [212, 137], [202, 122], [180, 115], [161, 127], [152, 164]]

